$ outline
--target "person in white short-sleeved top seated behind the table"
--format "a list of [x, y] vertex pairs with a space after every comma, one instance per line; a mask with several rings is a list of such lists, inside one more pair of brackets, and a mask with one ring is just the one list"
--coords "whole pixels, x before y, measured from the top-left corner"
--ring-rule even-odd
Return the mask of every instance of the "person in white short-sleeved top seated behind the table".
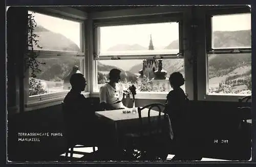
[[121, 71], [112, 69], [109, 73], [110, 81], [100, 88], [101, 109], [112, 110], [126, 108], [122, 103], [123, 86], [119, 83]]

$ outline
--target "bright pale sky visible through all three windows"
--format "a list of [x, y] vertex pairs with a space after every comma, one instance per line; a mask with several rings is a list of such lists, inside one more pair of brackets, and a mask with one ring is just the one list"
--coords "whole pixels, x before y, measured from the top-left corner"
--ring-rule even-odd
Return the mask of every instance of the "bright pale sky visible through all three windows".
[[[34, 15], [37, 25], [66, 36], [80, 47], [80, 23], [38, 13], [34, 13]], [[213, 31], [238, 31], [250, 28], [250, 14], [214, 16], [212, 18]], [[101, 27], [100, 49], [106, 51], [117, 44], [139, 44], [148, 47], [150, 35], [152, 35], [155, 48], [163, 48], [178, 39], [179, 25], [176, 22], [166, 22]]]

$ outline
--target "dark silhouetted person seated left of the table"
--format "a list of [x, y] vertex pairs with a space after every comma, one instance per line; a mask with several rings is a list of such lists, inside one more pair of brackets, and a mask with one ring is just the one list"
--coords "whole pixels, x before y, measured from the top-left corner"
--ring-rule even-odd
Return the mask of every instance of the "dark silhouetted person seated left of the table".
[[81, 73], [75, 73], [70, 77], [72, 89], [63, 102], [65, 103], [65, 123], [68, 124], [69, 135], [75, 140], [86, 137], [87, 132], [93, 132], [95, 120], [94, 108], [90, 101], [81, 92], [86, 88], [86, 78]]

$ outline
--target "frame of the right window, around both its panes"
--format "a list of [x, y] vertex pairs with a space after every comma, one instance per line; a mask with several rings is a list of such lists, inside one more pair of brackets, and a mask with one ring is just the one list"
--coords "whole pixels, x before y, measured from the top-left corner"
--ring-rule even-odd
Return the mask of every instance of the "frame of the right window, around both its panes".
[[[212, 48], [212, 29], [211, 29], [211, 18], [214, 15], [228, 15], [228, 14], [245, 14], [251, 13], [250, 8], [248, 6], [233, 6], [229, 8], [223, 9], [210, 9], [205, 12], [205, 57], [200, 57], [199, 69], [205, 71], [205, 75], [199, 75], [198, 81], [202, 81], [205, 83], [204, 88], [199, 87], [198, 89], [198, 100], [206, 100], [206, 101], [238, 101], [238, 98], [243, 96], [251, 95], [251, 94], [213, 94], [208, 93], [208, 55], [209, 54], [230, 54], [235, 53], [239, 56], [240, 53], [251, 53], [250, 48]], [[203, 61], [204, 60], [204, 61]], [[204, 62], [204, 64], [203, 64]], [[203, 72], [204, 72], [203, 71]], [[202, 86], [203, 86], [202, 85]]]

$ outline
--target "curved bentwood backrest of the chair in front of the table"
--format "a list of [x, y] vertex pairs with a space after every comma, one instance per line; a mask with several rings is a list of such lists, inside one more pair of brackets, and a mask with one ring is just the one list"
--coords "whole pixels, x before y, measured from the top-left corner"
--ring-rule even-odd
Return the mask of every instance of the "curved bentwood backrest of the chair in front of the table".
[[[156, 126], [153, 127], [153, 122], [152, 122], [152, 118], [151, 118], [151, 110], [153, 107], [157, 107], [158, 108], [158, 118], [157, 118], [157, 124]], [[146, 122], [146, 130], [148, 131], [149, 134], [153, 133], [153, 130], [159, 130], [161, 129], [161, 123], [163, 121], [163, 119], [161, 119], [161, 114], [164, 113], [163, 112], [163, 108], [165, 108], [165, 105], [162, 103], [152, 103], [152, 104], [148, 104], [145, 105], [143, 107], [138, 107], [138, 115], [139, 115], [139, 121], [140, 121], [140, 133], [142, 134], [143, 132], [145, 132], [144, 130], [144, 125], [143, 125], [143, 121], [142, 121], [142, 117], [141, 117], [141, 110], [148, 108], [148, 112], [147, 112], [147, 122]], [[164, 113], [164, 118], [167, 116], [166, 113]]]

